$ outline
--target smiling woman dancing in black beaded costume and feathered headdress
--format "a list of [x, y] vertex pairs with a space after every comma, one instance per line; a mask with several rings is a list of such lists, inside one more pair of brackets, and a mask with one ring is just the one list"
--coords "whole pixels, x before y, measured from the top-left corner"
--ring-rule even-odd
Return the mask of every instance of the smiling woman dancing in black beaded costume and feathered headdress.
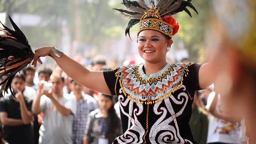
[[55, 46], [38, 48], [39, 57], [50, 55], [70, 78], [89, 89], [117, 95], [123, 134], [114, 144], [197, 144], [189, 119], [195, 91], [213, 83], [211, 64], [171, 64], [166, 61], [179, 25], [171, 16], [191, 13], [192, 0], [123, 0], [127, 10], [115, 9], [130, 18], [125, 34], [139, 23], [138, 51], [145, 64], [128, 65], [112, 71], [89, 71]]

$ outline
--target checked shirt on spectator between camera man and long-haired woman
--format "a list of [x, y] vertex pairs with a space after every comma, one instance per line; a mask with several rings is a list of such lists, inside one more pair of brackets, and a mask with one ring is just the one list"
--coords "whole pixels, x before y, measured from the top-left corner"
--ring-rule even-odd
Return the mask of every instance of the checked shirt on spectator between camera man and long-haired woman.
[[74, 116], [73, 120], [73, 144], [83, 144], [88, 115], [97, 108], [98, 105], [96, 100], [93, 97], [82, 93], [82, 99], [77, 102], [77, 114]]

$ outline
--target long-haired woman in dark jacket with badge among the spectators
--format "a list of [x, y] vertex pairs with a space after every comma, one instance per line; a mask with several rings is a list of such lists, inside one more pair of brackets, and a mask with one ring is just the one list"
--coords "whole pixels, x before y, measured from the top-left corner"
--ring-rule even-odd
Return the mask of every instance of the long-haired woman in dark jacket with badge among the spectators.
[[121, 120], [114, 109], [114, 96], [100, 94], [96, 109], [88, 116], [83, 144], [110, 144], [122, 134]]

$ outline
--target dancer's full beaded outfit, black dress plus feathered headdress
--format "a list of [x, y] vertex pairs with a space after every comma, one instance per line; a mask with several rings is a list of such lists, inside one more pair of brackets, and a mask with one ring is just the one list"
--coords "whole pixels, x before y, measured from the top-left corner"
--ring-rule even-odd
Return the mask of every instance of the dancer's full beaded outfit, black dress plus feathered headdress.
[[[139, 23], [143, 30], [156, 30], [171, 38], [178, 24], [171, 16], [186, 8], [191, 0], [123, 0], [128, 10], [115, 9], [130, 18], [125, 34]], [[199, 87], [199, 64], [171, 64], [158, 73], [145, 74], [144, 64], [105, 71], [104, 78], [120, 102], [123, 135], [114, 144], [197, 144], [189, 120], [193, 96]]]

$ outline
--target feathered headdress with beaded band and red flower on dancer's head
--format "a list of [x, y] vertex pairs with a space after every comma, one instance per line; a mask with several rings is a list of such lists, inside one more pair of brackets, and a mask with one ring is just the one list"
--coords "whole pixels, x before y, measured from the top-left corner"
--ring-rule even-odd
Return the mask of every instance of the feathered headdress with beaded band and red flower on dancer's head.
[[120, 14], [131, 19], [125, 29], [125, 36], [130, 36], [130, 28], [139, 23], [138, 34], [143, 30], [156, 30], [168, 37], [174, 36], [179, 29], [178, 23], [172, 15], [185, 11], [190, 17], [191, 12], [186, 8], [192, 8], [197, 14], [196, 8], [191, 3], [192, 0], [123, 0], [121, 4], [127, 10], [117, 9]]

